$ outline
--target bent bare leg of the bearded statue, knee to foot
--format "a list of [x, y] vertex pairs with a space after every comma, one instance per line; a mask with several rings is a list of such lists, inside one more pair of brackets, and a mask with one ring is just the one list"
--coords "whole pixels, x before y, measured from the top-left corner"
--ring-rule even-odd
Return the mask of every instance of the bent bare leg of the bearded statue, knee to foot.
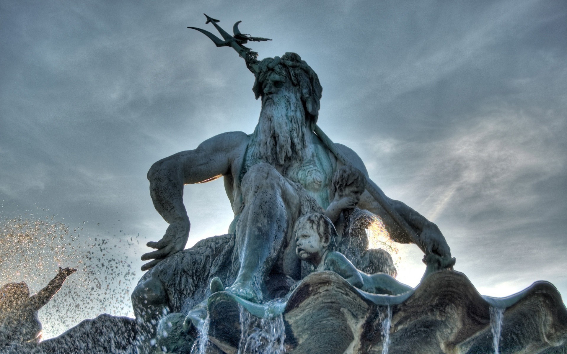
[[257, 164], [242, 181], [244, 209], [236, 224], [240, 270], [229, 291], [260, 301], [261, 285], [288, 241], [299, 211], [294, 187], [269, 164]]

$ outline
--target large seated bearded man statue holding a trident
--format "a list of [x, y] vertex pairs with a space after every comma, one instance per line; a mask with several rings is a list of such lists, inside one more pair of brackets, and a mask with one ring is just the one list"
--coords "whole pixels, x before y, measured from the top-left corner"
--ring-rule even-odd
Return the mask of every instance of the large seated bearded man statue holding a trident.
[[148, 242], [156, 250], [142, 255], [142, 260], [152, 260], [142, 270], [185, 248], [191, 224], [183, 204], [183, 185], [223, 177], [235, 215], [229, 232], [234, 234], [239, 267], [226, 290], [262, 301], [261, 289], [270, 274], [301, 279], [301, 261], [291, 235], [295, 221], [327, 208], [333, 174], [345, 164], [358, 168], [369, 182], [358, 207], [380, 216], [393, 240], [413, 242], [426, 254], [450, 257], [435, 224], [404, 203], [387, 198], [370, 181], [354, 151], [333, 144], [320, 130], [315, 133], [322, 89], [318, 76], [298, 54], [257, 61], [257, 53], [243, 43], [265, 39], [242, 35], [237, 25], [233, 37], [218, 27], [217, 20], [208, 20], [225, 41], [199, 31], [214, 37], [218, 46], [236, 49], [255, 74], [253, 92], [262, 103], [259, 122], [252, 134], [219, 134], [195, 150], [176, 153], [150, 168], [151, 198], [170, 225], [161, 240]]

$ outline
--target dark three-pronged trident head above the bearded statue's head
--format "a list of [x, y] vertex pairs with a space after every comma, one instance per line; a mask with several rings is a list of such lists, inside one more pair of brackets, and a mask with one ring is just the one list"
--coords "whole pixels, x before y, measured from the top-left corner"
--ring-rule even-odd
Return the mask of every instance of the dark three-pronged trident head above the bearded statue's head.
[[231, 36], [224, 29], [222, 29], [221, 26], [219, 26], [217, 24], [217, 22], [220, 22], [219, 20], [215, 20], [215, 19], [211, 18], [210, 16], [208, 16], [207, 14], [203, 14], [203, 15], [205, 15], [205, 17], [207, 18], [207, 21], [205, 22], [205, 24], [208, 24], [209, 22], [212, 23], [214, 25], [214, 27], [217, 28], [217, 31], [219, 33], [221, 33], [223, 40], [221, 40], [219, 37], [213, 35], [213, 33], [209, 32], [209, 31], [205, 31], [204, 29], [197, 28], [197, 27], [187, 27], [187, 28], [196, 29], [197, 31], [203, 33], [205, 36], [209, 37], [209, 39], [212, 40], [216, 46], [219, 46], [219, 47], [220, 46], [231, 46], [234, 50], [236, 50], [236, 53], [238, 53], [241, 57], [244, 58], [244, 61], [246, 61], [246, 66], [248, 67], [248, 70], [252, 71], [254, 74], [257, 74], [257, 72], [258, 72], [258, 60], [257, 60], [258, 53], [253, 52], [252, 49], [247, 48], [243, 44], [247, 43], [249, 40], [250, 41], [271, 41], [271, 39], [263, 38], [263, 37], [252, 37], [250, 35], [240, 33], [240, 31], [238, 29], [238, 24], [242, 21], [238, 21], [234, 24], [234, 26], [232, 27], [232, 32], [234, 32], [234, 36]]

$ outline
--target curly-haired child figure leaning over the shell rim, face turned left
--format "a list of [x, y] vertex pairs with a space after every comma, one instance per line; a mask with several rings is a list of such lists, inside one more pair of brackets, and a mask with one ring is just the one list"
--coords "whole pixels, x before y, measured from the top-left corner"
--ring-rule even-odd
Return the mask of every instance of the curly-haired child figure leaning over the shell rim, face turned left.
[[386, 273], [366, 274], [354, 267], [342, 253], [334, 251], [337, 232], [331, 220], [319, 213], [301, 217], [295, 225], [295, 253], [316, 271], [330, 270], [354, 287], [374, 294], [396, 295], [413, 288]]

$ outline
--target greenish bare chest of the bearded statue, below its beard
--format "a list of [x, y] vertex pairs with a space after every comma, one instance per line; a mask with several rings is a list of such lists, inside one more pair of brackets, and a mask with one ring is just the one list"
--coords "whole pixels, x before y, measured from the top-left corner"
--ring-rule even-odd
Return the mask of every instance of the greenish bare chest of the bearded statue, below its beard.
[[326, 153], [314, 153], [310, 159], [291, 165], [284, 172], [284, 176], [301, 184], [321, 207], [327, 208], [333, 166]]

